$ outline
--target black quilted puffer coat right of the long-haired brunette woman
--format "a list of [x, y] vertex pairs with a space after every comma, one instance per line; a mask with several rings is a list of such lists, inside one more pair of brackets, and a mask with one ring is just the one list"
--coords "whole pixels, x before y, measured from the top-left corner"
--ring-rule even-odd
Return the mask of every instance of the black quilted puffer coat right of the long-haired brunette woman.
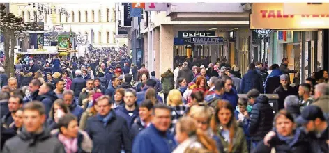
[[268, 97], [260, 95], [257, 97], [252, 112], [250, 113], [250, 124], [248, 131], [252, 140], [262, 140], [273, 126], [273, 108], [268, 104]]

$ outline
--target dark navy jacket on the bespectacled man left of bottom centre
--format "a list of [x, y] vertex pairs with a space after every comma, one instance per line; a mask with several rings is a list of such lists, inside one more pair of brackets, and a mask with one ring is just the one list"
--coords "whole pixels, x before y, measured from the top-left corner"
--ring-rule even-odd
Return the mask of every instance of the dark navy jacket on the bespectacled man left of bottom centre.
[[111, 110], [111, 117], [106, 125], [97, 116], [91, 117], [86, 122], [86, 132], [93, 140], [93, 153], [109, 152], [118, 153], [125, 150], [130, 153], [132, 143], [130, 140], [127, 122]]

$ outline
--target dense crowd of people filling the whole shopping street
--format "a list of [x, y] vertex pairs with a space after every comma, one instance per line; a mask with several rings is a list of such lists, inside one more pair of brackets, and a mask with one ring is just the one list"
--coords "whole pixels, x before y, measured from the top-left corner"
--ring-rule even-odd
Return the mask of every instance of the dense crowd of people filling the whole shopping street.
[[241, 78], [187, 58], [156, 75], [102, 48], [16, 77], [0, 68], [1, 152], [329, 152], [328, 70], [291, 83], [287, 65], [251, 63]]

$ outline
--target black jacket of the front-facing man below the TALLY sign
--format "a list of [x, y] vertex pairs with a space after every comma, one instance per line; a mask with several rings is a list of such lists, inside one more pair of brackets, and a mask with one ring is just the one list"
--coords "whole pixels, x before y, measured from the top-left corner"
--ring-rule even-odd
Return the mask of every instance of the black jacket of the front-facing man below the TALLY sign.
[[276, 88], [273, 92], [274, 94], [279, 95], [279, 99], [277, 100], [277, 108], [278, 110], [284, 108], [284, 99], [286, 99], [289, 95], [298, 95], [298, 91], [296, 88], [293, 88], [291, 86], [288, 86], [288, 90], [284, 90], [282, 85], [280, 85], [278, 88]]

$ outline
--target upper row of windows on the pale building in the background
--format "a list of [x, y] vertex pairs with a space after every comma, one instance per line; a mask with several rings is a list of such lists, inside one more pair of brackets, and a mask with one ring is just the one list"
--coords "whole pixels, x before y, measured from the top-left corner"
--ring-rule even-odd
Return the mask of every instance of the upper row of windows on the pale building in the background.
[[[106, 19], [104, 19], [102, 16], [102, 15], [104, 15], [103, 12], [101, 10], [98, 10], [98, 22], [115, 22], [116, 21], [116, 13], [115, 13], [114, 8], [112, 8], [112, 13], [111, 13], [111, 10], [109, 10], [109, 8], [106, 9]], [[89, 15], [89, 13], [91, 13], [91, 15]], [[41, 15], [41, 13], [40, 13], [40, 15]], [[61, 22], [61, 23], [95, 22], [95, 11], [94, 10], [84, 11], [83, 16], [84, 16], [84, 21], [82, 21], [82, 11], [80, 11], [80, 10], [77, 12], [77, 15], [75, 15], [75, 11], [72, 11], [70, 13], [70, 17], [66, 17], [66, 15], [59, 14], [59, 22]], [[35, 21], [36, 17], [38, 17], [36, 11], [33, 11], [33, 14], [31, 14], [31, 11], [27, 11], [27, 19], [25, 19], [25, 12], [22, 11], [22, 18], [26, 22]], [[77, 17], [77, 19], [75, 17]], [[44, 21], [47, 22], [48, 15], [47, 14], [43, 15], [43, 19], [45, 19]], [[43, 19], [40, 19], [40, 20], [43, 20]]]

